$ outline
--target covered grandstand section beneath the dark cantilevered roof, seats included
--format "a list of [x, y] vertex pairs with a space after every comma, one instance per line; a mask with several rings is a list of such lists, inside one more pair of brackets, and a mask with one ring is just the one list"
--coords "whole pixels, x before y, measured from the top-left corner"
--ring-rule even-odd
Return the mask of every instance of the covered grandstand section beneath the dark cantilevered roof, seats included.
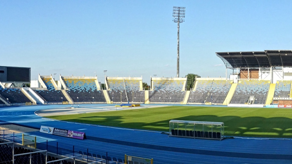
[[[223, 104], [291, 105], [292, 51], [217, 52], [233, 87]], [[236, 70], [236, 72], [235, 72]]]

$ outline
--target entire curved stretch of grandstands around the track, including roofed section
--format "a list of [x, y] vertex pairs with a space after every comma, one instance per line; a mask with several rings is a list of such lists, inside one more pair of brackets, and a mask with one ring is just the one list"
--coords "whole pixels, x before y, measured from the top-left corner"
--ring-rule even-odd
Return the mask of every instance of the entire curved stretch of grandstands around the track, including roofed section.
[[[196, 78], [193, 88], [188, 91], [187, 77], [151, 77], [151, 86], [146, 91], [142, 87], [142, 77], [106, 77], [104, 89], [97, 77], [60, 75], [60, 80], [55, 81], [52, 75], [39, 75], [37, 81], [31, 81], [30, 88], [24, 83], [28, 78], [11, 82], [0, 77], [0, 104], [292, 104], [291, 50], [217, 52], [216, 55], [226, 66], [226, 77]], [[228, 68], [232, 69], [229, 77]], [[1, 66], [1, 69], [6, 71], [8, 68]]]

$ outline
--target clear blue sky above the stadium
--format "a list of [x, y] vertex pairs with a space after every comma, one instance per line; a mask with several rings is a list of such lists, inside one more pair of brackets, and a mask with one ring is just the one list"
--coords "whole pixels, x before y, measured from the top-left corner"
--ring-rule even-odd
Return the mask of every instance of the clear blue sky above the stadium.
[[[63, 76], [225, 77], [215, 52], [292, 49], [291, 0], [0, 0], [0, 65], [31, 67], [31, 79]], [[228, 71], [228, 74], [231, 70]], [[58, 78], [56, 78], [58, 79]]]

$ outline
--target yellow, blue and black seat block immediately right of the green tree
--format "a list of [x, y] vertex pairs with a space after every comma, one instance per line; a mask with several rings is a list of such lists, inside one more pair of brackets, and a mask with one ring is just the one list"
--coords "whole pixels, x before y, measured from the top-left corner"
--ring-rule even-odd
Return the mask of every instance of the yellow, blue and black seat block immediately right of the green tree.
[[190, 91], [188, 103], [223, 103], [231, 87], [231, 81], [197, 81]]

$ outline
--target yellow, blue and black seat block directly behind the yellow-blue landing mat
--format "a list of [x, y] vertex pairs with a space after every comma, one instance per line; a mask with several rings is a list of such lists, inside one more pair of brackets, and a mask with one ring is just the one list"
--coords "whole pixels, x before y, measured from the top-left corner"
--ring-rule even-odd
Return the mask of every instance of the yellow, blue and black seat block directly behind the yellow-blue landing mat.
[[107, 93], [113, 102], [144, 102], [145, 91], [140, 90], [140, 81], [135, 79], [108, 79]]

